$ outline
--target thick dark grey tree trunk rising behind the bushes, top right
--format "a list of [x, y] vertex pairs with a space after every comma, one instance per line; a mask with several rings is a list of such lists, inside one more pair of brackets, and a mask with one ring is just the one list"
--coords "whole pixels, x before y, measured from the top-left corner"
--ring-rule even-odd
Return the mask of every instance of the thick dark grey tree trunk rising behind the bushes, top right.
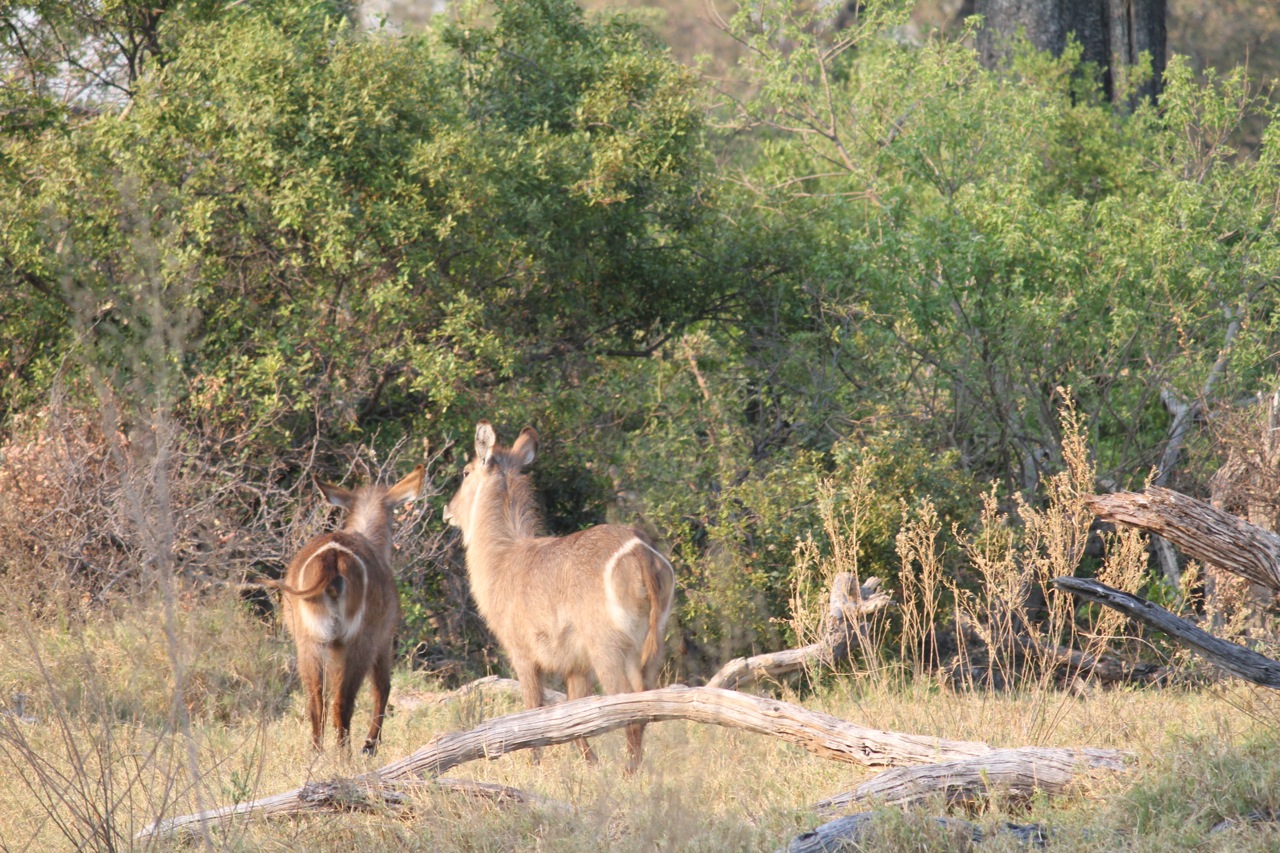
[[978, 53], [988, 68], [1009, 58], [1011, 40], [1020, 32], [1036, 49], [1053, 55], [1061, 55], [1068, 37], [1074, 37], [1084, 49], [1084, 61], [1102, 69], [1107, 100], [1117, 101], [1143, 53], [1151, 55], [1153, 77], [1133, 95], [1160, 95], [1166, 0], [977, 0], [974, 6], [983, 17]]

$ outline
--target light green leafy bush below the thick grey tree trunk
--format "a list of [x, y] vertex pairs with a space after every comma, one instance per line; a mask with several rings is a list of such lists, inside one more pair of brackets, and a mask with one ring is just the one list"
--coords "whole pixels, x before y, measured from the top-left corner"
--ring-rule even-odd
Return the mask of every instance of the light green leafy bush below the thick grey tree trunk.
[[927, 423], [979, 480], [1029, 493], [1060, 443], [1055, 388], [1074, 389], [1108, 478], [1132, 479], [1164, 439], [1161, 392], [1265, 375], [1274, 154], [1226, 145], [1263, 109], [1243, 74], [1199, 86], [1175, 60], [1161, 111], [1125, 115], [1078, 50], [993, 73], [877, 15], [831, 35], [787, 4], [781, 23], [755, 14], [736, 27], [763, 85], [739, 110], [769, 133], [742, 201], [758, 227], [806, 223], [796, 275], [827, 334], [801, 357], [852, 378], [840, 410]]

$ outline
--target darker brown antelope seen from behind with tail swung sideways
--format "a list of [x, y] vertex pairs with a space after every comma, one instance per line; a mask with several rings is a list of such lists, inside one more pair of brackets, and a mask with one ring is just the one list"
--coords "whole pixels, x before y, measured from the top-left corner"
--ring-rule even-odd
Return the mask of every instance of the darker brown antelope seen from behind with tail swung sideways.
[[284, 624], [298, 648], [298, 678], [307, 694], [311, 743], [324, 748], [325, 694], [333, 694], [338, 747], [347, 745], [356, 694], [370, 675], [374, 721], [365, 754], [378, 752], [392, 686], [392, 639], [399, 596], [392, 575], [392, 511], [417, 497], [424, 467], [396, 485], [348, 492], [315, 480], [325, 500], [347, 510], [340, 532], [316, 537], [289, 564], [283, 581]]

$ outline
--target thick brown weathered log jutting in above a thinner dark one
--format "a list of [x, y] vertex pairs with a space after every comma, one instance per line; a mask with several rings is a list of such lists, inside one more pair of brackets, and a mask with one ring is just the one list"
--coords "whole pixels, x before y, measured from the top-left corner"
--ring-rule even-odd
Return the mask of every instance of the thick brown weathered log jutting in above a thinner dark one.
[[1161, 535], [1194, 560], [1280, 590], [1280, 535], [1203, 501], [1152, 485], [1084, 498], [1098, 517]]

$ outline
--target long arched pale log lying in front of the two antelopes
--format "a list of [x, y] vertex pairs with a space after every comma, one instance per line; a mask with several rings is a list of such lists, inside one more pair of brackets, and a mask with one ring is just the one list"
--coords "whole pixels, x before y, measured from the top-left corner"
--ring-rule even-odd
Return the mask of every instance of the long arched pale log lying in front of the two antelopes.
[[[628, 722], [690, 720], [742, 729], [804, 747], [809, 752], [868, 766], [948, 761], [991, 752], [984, 743], [881, 731], [787, 702], [714, 688], [671, 686], [645, 693], [588, 697], [489, 720], [470, 731], [443, 734], [413, 754], [333, 788], [316, 785], [250, 803], [157, 821], [138, 838], [168, 835], [200, 824], [243, 816], [279, 816], [315, 808], [367, 808], [403, 783], [436, 776], [461, 763], [532, 747], [596, 736]], [[419, 783], [420, 784], [420, 783]]]

